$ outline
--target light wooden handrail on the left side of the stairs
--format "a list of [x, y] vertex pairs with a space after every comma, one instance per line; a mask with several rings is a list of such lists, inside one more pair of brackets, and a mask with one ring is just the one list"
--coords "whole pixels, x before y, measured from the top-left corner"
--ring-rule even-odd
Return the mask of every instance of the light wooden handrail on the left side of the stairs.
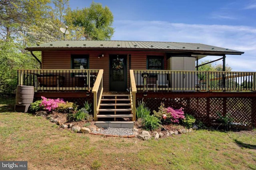
[[103, 92], [103, 69], [100, 69], [92, 88], [93, 93], [93, 105], [94, 105], [94, 121], [97, 121], [97, 115], [100, 108], [100, 100]]

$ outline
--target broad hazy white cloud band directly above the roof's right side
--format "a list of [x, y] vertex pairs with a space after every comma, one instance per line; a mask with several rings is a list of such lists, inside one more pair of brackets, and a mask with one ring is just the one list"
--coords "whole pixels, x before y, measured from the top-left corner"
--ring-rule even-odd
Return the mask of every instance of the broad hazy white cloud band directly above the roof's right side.
[[241, 56], [227, 55], [226, 63], [234, 71], [256, 71], [254, 27], [130, 20], [117, 20], [114, 27], [112, 40], [204, 43], [244, 51]]

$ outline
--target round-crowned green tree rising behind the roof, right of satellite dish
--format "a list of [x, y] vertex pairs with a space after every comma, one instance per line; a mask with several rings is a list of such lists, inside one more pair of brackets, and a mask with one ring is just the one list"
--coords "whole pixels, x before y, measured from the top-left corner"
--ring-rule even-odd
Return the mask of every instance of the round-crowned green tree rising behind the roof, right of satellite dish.
[[99, 3], [92, 2], [90, 8], [82, 10], [72, 11], [68, 8], [64, 18], [68, 26], [78, 31], [74, 39], [110, 40], [114, 34], [114, 28], [111, 27], [114, 21], [113, 14], [107, 6], [102, 7]]

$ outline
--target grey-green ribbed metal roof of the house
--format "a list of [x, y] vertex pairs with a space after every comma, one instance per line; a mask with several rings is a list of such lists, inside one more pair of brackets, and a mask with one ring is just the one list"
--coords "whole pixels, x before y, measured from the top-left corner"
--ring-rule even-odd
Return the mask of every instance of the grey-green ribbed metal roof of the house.
[[62, 40], [41, 45], [26, 47], [29, 51], [45, 51], [50, 49], [122, 49], [149, 50], [164, 52], [197, 52], [200, 54], [236, 54], [244, 52], [233, 49], [216, 47], [201, 43], [180, 42], [141, 42], [141, 41], [98, 41], [98, 40]]

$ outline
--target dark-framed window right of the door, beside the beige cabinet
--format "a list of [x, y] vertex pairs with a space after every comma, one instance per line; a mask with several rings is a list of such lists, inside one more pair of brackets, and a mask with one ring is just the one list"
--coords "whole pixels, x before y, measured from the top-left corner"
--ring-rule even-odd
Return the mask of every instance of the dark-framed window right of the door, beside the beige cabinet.
[[162, 56], [148, 56], [147, 69], [162, 70], [164, 69], [164, 57]]

